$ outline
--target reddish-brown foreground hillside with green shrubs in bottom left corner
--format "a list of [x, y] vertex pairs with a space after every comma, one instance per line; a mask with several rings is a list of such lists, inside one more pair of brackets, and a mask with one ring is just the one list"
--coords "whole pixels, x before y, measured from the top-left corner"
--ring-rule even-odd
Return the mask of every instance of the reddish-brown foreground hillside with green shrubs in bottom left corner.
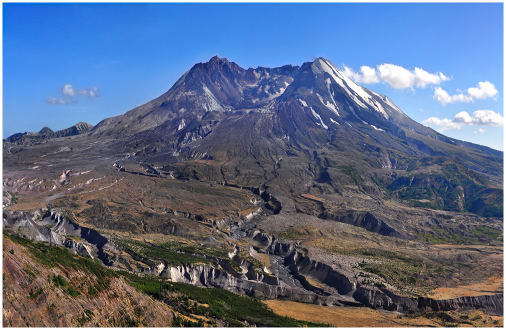
[[166, 305], [69, 250], [3, 235], [3, 326], [170, 326]]

